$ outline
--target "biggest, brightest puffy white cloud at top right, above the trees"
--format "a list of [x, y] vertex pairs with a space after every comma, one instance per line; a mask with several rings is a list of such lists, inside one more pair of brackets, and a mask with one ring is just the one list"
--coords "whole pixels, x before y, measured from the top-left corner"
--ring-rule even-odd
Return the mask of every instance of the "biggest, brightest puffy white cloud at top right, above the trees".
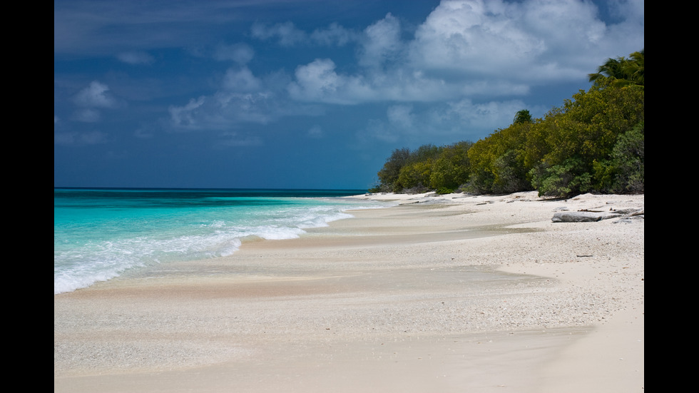
[[[607, 26], [591, 1], [442, 1], [417, 29], [409, 56], [425, 71], [510, 83], [574, 81], [603, 58], [641, 49], [638, 20]], [[626, 34], [617, 32], [621, 26]]]

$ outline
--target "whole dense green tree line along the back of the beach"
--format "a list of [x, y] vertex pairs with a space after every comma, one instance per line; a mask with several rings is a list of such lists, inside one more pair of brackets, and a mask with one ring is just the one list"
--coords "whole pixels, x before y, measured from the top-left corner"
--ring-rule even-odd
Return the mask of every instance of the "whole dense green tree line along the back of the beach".
[[543, 118], [523, 109], [475, 143], [396, 149], [369, 191], [644, 193], [644, 55], [609, 58]]

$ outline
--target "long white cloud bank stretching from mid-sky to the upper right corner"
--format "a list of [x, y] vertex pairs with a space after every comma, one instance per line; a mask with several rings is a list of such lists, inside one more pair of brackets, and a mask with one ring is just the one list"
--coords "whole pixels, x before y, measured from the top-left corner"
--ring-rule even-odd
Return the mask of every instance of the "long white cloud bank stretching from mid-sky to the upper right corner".
[[588, 1], [442, 1], [412, 41], [387, 14], [362, 32], [361, 67], [340, 72], [319, 58], [297, 67], [288, 91], [299, 101], [335, 104], [526, 96], [533, 86], [586, 81], [605, 58], [589, 53], [606, 50], [600, 43], [614, 41], [610, 31]]

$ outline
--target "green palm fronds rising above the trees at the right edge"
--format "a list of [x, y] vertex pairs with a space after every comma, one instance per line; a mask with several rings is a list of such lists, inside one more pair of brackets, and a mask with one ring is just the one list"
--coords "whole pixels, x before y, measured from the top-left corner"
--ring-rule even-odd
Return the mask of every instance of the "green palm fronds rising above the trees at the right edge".
[[628, 58], [608, 58], [597, 68], [596, 73], [589, 73], [590, 81], [595, 86], [609, 83], [611, 86], [621, 87], [629, 85], [644, 86], [644, 61], [646, 49], [633, 52]]

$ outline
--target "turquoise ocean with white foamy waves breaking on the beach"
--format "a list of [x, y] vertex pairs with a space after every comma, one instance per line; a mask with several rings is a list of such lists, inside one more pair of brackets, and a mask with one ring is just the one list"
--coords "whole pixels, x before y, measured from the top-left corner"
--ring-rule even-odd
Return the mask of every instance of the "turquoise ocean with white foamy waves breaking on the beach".
[[386, 203], [366, 190], [53, 188], [53, 294], [129, 269], [233, 255], [241, 240], [297, 238], [307, 228]]

